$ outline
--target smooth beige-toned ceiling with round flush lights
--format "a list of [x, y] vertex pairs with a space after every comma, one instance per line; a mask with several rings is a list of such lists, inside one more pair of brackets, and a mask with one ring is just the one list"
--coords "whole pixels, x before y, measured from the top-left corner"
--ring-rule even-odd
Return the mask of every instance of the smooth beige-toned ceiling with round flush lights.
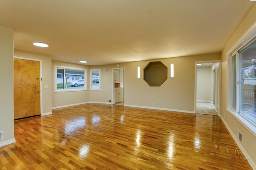
[[[102, 65], [218, 53], [249, 0], [0, 0], [14, 48]], [[48, 43], [48, 48], [32, 43]]]

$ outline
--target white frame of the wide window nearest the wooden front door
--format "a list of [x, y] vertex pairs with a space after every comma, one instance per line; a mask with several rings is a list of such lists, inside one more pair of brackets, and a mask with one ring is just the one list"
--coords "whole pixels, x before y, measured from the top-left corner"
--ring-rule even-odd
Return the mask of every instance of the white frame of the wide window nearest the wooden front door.
[[[57, 89], [57, 69], [84, 71], [84, 89]], [[64, 71], [63, 79], [66, 82], [65, 71]], [[86, 90], [87, 90], [87, 69], [67, 67], [67, 66], [56, 66], [56, 65], [54, 66], [54, 92], [73, 92], [73, 91], [86, 91]]]

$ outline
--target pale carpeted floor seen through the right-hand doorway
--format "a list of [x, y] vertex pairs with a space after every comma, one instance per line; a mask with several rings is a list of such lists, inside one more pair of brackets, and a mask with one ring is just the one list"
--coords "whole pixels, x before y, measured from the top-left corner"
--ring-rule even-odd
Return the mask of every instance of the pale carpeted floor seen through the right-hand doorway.
[[211, 102], [196, 102], [196, 113], [205, 115], [218, 115], [215, 105]]

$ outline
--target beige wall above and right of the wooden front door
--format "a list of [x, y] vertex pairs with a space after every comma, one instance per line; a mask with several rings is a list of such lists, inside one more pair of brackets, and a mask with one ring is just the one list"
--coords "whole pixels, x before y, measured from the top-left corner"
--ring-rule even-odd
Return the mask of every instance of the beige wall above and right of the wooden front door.
[[[26, 59], [42, 60], [42, 113], [41, 115], [52, 113], [52, 57], [50, 55], [32, 53], [28, 51], [22, 51], [14, 49], [15, 57], [22, 57]], [[48, 88], [44, 88], [44, 85], [48, 85]]]

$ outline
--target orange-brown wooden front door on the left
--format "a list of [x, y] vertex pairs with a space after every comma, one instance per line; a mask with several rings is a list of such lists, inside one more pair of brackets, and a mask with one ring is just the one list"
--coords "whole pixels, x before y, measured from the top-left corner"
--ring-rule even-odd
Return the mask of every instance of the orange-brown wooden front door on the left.
[[14, 59], [14, 119], [40, 114], [40, 61]]

